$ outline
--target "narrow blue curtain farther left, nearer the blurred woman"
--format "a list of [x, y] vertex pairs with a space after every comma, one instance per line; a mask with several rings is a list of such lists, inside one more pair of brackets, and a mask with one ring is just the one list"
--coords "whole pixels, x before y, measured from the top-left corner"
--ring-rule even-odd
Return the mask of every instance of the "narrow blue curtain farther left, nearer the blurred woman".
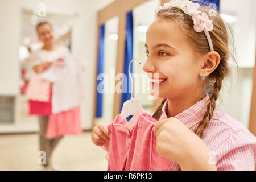
[[[100, 27], [100, 43], [98, 47], [98, 75], [100, 73], [104, 73], [104, 34], [105, 34], [105, 24], [102, 24]], [[97, 80], [97, 85], [100, 82], [104, 81], [104, 78], [101, 80]], [[96, 117], [102, 117], [102, 110], [103, 110], [103, 93], [98, 92], [97, 90], [97, 101], [96, 101]]]

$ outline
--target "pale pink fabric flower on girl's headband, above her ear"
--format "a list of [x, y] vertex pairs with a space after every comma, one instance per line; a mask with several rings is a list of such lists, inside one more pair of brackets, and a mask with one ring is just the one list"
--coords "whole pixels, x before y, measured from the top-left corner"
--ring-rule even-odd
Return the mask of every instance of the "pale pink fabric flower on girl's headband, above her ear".
[[201, 32], [204, 30], [210, 32], [213, 30], [212, 20], [209, 20], [206, 13], [203, 12], [202, 15], [193, 15], [192, 19], [194, 20], [194, 30], [196, 32]]

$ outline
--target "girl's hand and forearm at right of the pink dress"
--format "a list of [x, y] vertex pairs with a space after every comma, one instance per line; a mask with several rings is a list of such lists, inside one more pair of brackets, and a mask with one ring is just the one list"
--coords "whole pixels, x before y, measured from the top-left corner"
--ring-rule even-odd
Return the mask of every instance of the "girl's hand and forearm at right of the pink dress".
[[[156, 151], [180, 165], [182, 170], [216, 170], [206, 144], [179, 119], [168, 118], [155, 125]], [[212, 157], [211, 157], [212, 158]]]

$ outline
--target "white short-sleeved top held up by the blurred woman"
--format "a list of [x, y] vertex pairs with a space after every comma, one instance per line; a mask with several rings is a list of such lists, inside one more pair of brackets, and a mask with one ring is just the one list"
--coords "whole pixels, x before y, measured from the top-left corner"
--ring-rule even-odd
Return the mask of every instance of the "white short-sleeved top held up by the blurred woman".
[[66, 53], [59, 61], [42, 73], [42, 78], [53, 82], [52, 113], [57, 114], [76, 107], [82, 101], [81, 72], [86, 62], [77, 56]]

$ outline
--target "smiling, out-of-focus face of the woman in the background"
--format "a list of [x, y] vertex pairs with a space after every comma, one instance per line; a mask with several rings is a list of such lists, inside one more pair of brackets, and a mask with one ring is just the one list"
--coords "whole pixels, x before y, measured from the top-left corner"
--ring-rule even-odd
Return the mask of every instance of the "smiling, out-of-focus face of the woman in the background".
[[53, 44], [54, 33], [52, 27], [49, 24], [43, 24], [42, 26], [39, 26], [38, 38], [44, 43], [44, 45]]

